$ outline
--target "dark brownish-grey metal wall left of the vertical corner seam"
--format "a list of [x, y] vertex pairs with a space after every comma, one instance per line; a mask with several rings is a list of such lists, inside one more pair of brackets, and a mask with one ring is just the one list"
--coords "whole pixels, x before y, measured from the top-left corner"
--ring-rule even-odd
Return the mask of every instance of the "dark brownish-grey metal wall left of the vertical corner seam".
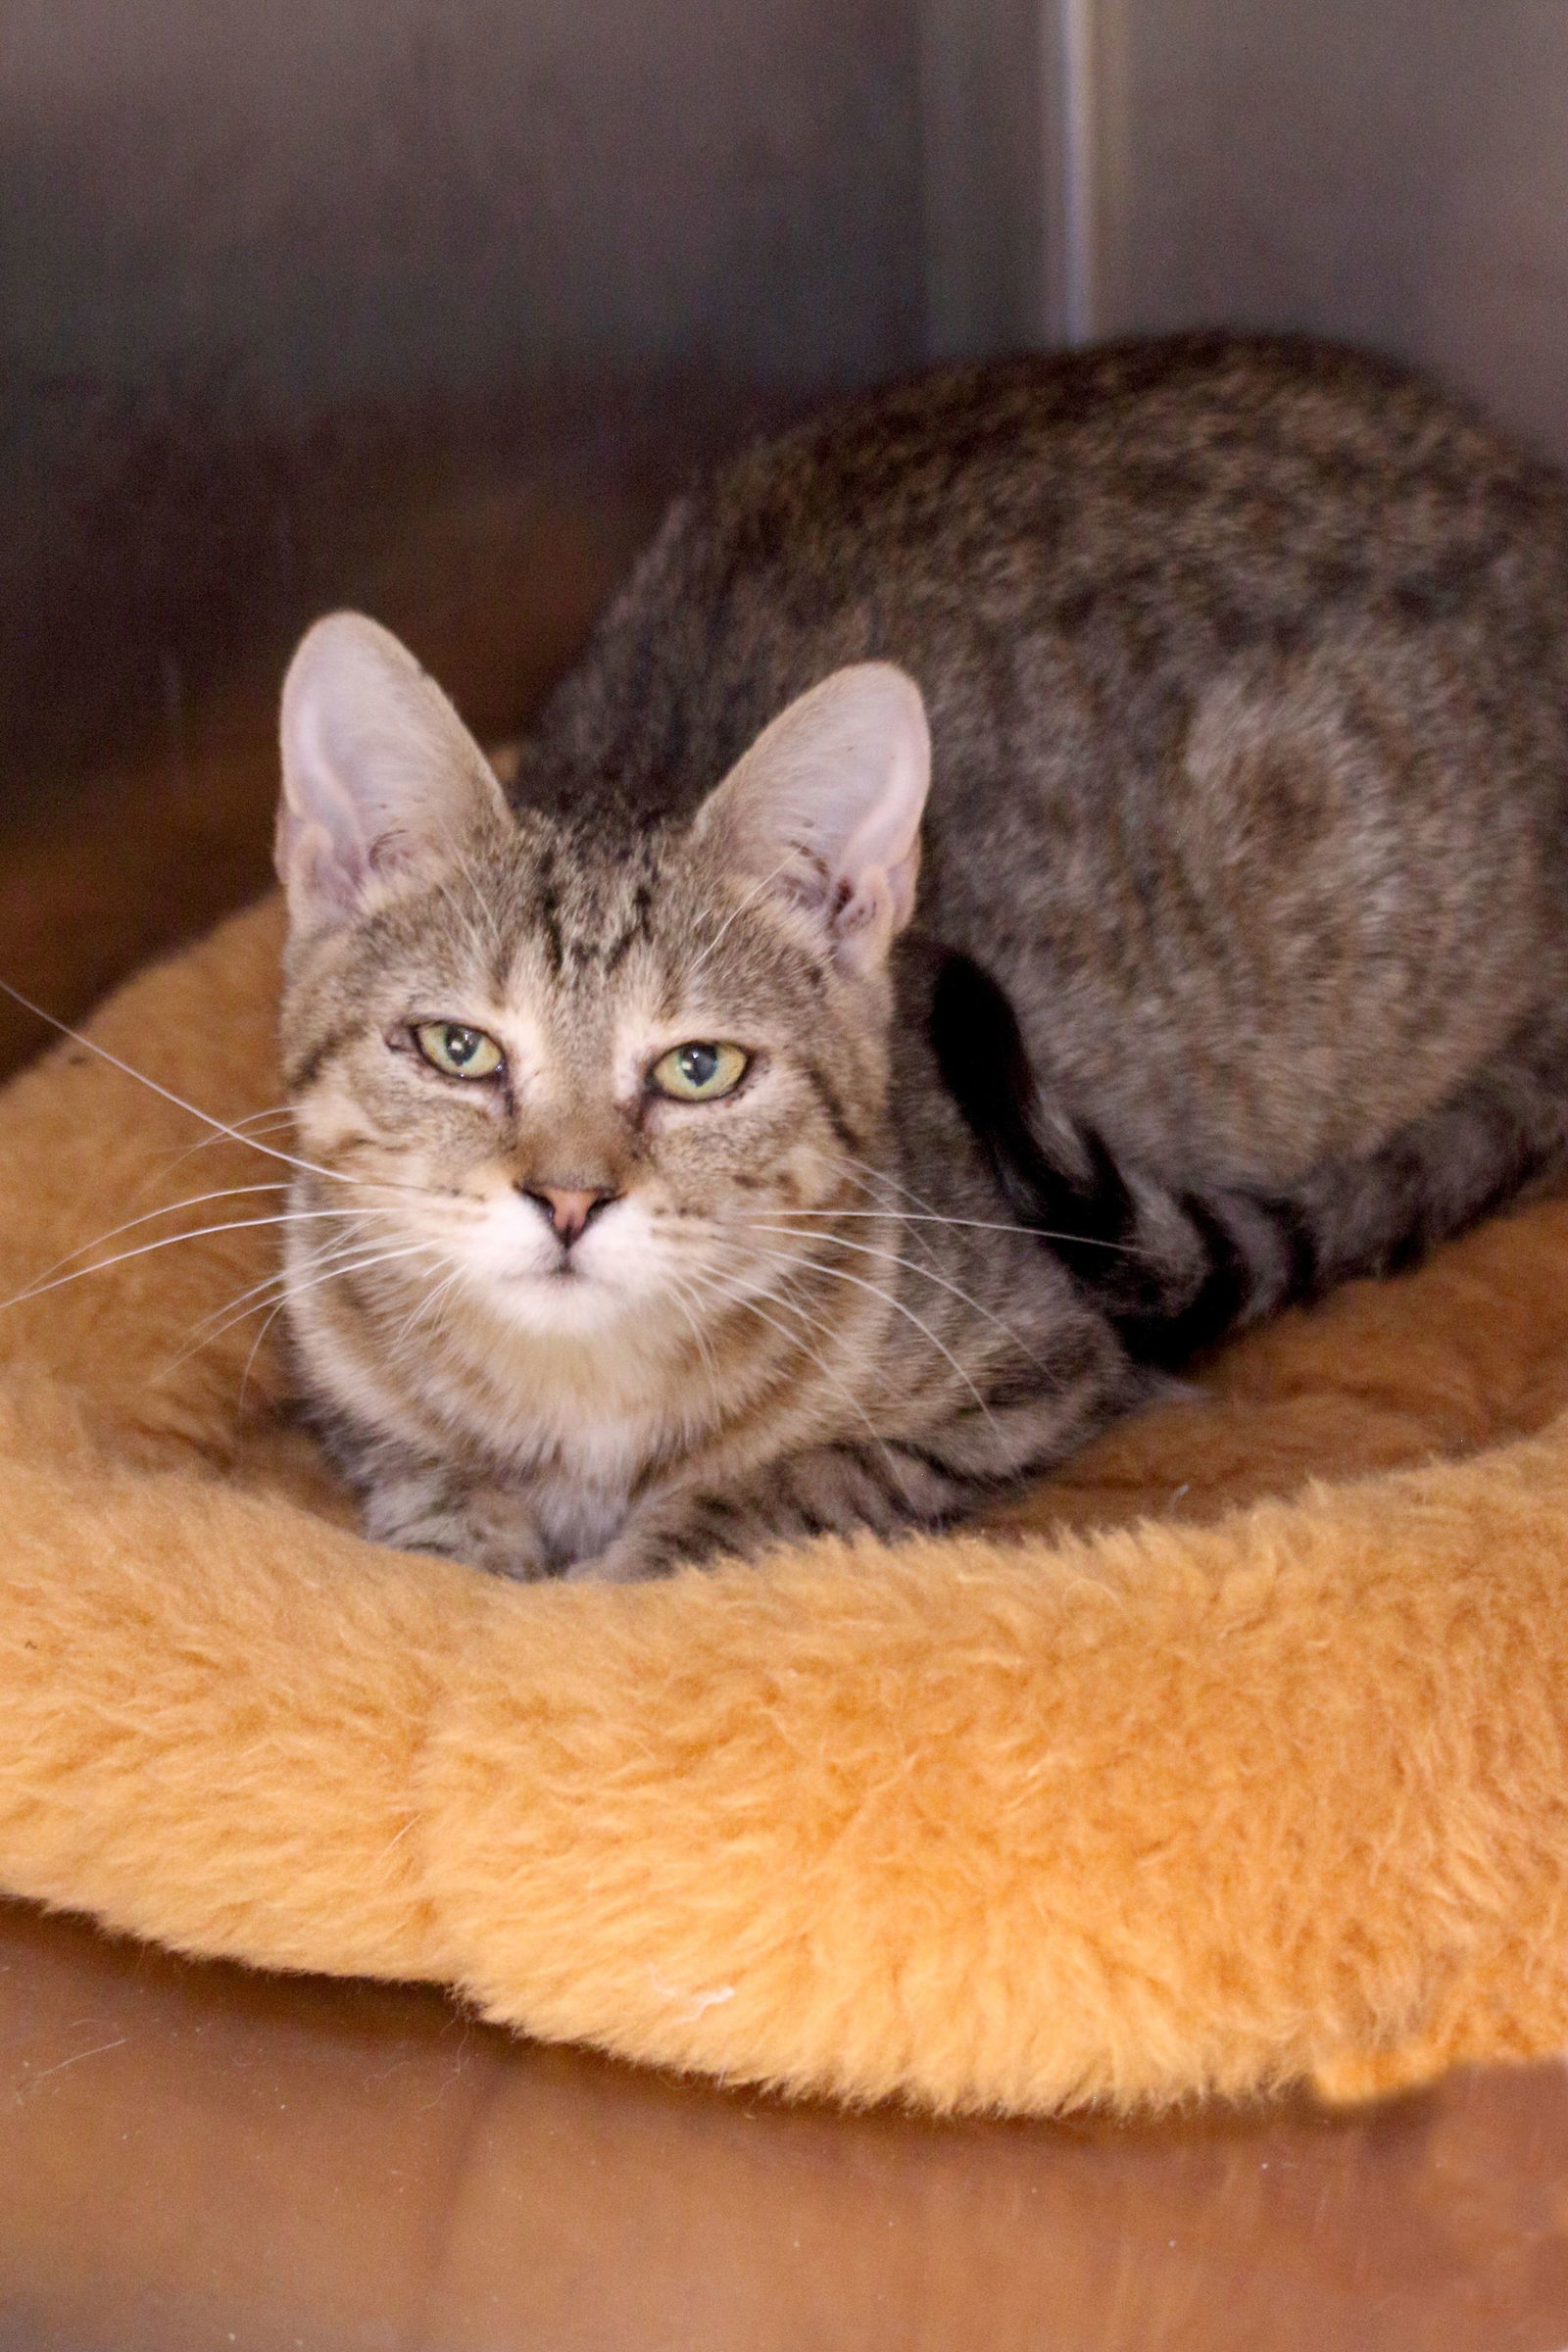
[[562, 546], [597, 583], [693, 454], [919, 358], [903, 0], [9, 0], [0, 40], [12, 807], [179, 748], [339, 597], [456, 597], [440, 647], [494, 567], [548, 666]]

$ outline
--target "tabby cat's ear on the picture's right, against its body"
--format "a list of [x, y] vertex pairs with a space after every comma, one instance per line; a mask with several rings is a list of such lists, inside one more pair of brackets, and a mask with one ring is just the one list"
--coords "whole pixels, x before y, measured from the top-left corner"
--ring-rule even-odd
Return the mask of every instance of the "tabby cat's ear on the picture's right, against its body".
[[875, 971], [914, 913], [929, 788], [919, 687], [891, 661], [860, 661], [764, 727], [696, 830], [806, 908], [842, 964]]

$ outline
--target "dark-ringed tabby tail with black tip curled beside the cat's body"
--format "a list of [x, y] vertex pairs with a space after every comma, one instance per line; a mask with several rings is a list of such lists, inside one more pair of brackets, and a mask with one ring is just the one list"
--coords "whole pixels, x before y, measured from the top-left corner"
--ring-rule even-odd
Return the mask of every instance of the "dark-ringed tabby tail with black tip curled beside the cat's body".
[[1352, 1275], [1399, 1272], [1568, 1167], [1561, 1035], [1521, 1042], [1382, 1150], [1286, 1192], [1182, 1192], [1121, 1167], [1041, 1103], [1013, 1007], [969, 957], [943, 967], [931, 1042], [1011, 1214], [1093, 1294], [1128, 1355], [1164, 1369]]

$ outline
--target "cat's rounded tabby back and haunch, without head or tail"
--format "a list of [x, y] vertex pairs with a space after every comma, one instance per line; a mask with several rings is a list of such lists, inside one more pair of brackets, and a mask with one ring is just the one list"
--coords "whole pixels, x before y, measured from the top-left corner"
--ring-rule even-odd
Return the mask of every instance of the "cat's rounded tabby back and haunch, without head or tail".
[[1561, 477], [1392, 362], [950, 369], [679, 501], [524, 790], [684, 811], [832, 668], [903, 663], [924, 927], [1119, 1150], [1288, 1181], [1568, 985], [1566, 616]]

